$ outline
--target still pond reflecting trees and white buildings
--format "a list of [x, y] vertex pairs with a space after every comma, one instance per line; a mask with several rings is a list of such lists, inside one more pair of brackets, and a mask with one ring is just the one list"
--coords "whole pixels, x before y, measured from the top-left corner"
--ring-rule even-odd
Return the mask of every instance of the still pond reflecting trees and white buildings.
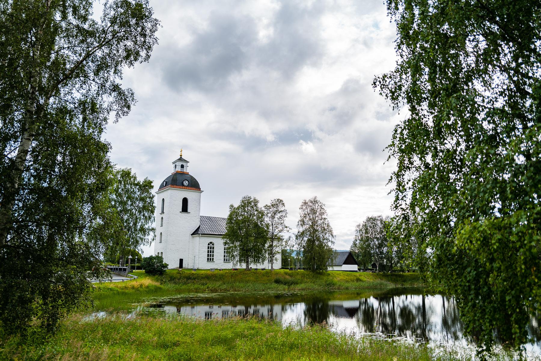
[[[453, 297], [422, 288], [295, 293], [179, 294], [149, 298], [134, 311], [203, 319], [260, 317], [284, 325], [327, 324], [337, 332], [471, 348]], [[541, 353], [539, 317], [532, 317], [527, 352]]]

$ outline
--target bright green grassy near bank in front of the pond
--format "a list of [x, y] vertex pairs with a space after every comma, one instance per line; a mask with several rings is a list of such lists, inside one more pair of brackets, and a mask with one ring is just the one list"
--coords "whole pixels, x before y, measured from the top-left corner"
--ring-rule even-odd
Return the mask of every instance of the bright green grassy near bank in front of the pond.
[[[428, 347], [298, 329], [255, 319], [73, 317], [46, 340], [5, 338], [0, 359], [34, 360], [456, 360]], [[505, 359], [505, 358], [502, 358]]]

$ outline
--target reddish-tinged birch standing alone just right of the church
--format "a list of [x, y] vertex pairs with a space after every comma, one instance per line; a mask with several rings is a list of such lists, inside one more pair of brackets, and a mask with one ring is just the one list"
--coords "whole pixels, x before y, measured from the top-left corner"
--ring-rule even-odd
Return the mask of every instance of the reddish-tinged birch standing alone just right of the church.
[[302, 250], [303, 266], [313, 272], [327, 271], [327, 262], [334, 254], [334, 233], [325, 204], [316, 196], [303, 200], [299, 207], [295, 239]]

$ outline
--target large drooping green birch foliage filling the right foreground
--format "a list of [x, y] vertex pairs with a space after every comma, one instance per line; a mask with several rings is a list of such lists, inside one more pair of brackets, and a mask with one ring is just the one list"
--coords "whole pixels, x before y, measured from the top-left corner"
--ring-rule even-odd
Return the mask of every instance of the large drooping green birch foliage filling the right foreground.
[[518, 346], [541, 307], [541, 5], [386, 3], [399, 59], [374, 85], [406, 114], [388, 147], [394, 210], [466, 330]]

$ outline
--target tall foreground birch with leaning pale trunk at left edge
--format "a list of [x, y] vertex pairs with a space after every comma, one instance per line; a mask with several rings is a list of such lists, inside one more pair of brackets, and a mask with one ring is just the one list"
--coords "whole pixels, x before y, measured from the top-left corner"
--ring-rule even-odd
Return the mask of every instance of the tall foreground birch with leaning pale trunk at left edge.
[[[102, 139], [134, 94], [159, 26], [146, 0], [0, 5], [0, 323], [53, 331], [88, 299], [113, 237], [113, 166]], [[97, 274], [94, 275], [97, 277]]]

